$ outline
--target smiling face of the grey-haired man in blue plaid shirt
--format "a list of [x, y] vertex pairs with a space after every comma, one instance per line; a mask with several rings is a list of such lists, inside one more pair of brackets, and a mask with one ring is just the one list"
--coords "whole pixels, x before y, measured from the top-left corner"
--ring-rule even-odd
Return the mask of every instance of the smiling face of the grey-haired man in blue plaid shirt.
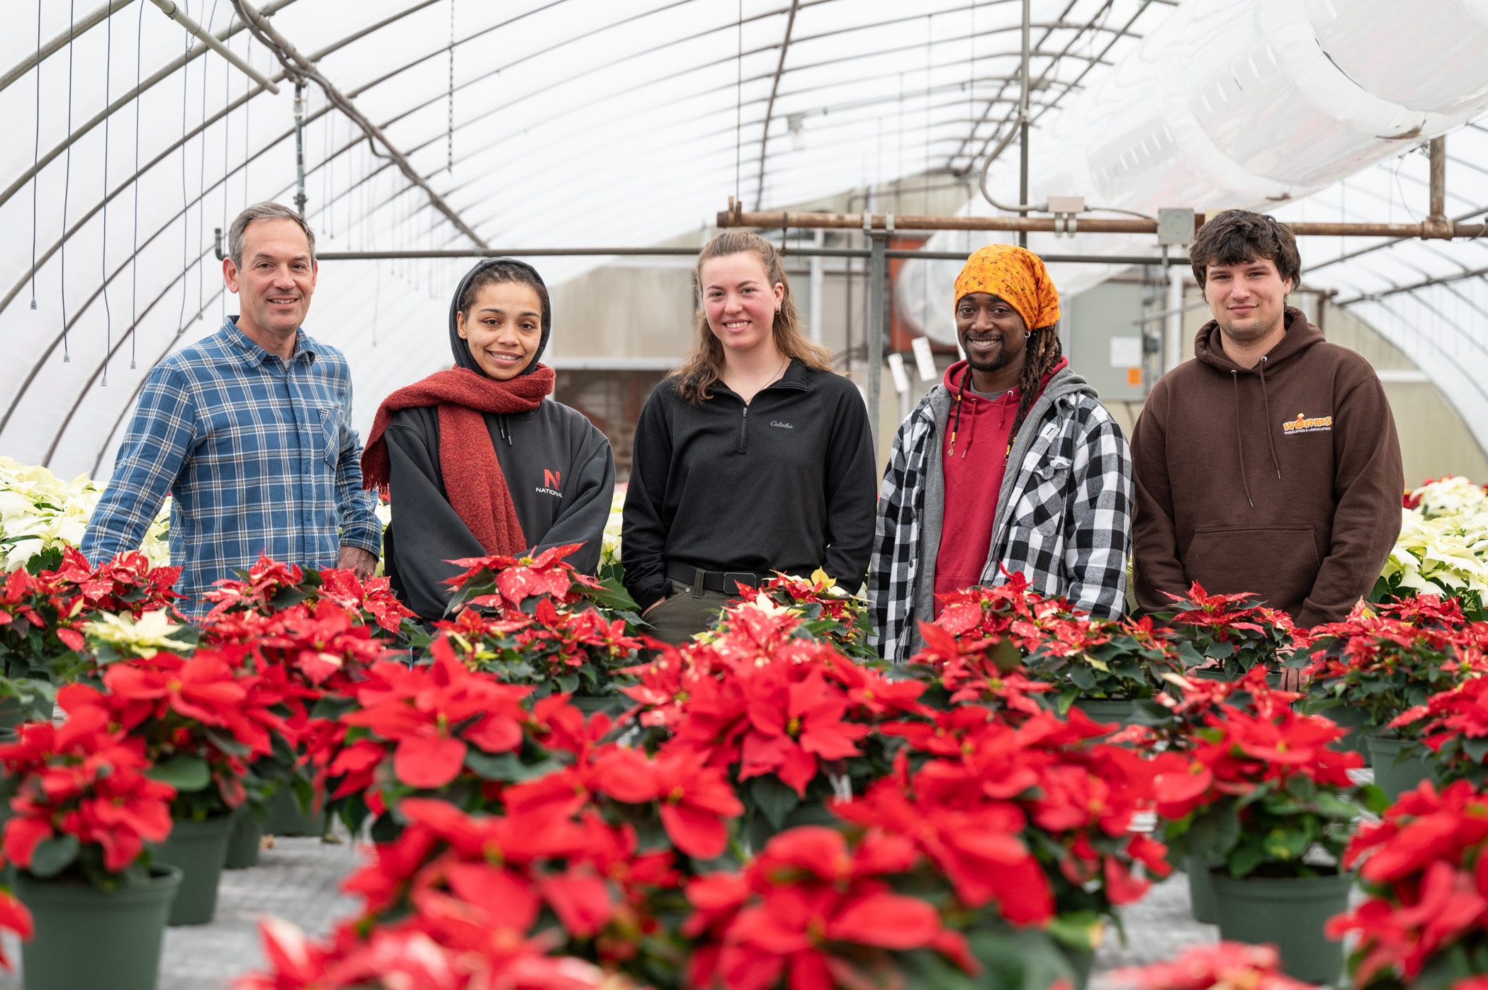
[[250, 336], [284, 339], [305, 322], [315, 292], [310, 238], [293, 220], [254, 220], [243, 232], [243, 269], [222, 262], [228, 289], [238, 293], [238, 326]]

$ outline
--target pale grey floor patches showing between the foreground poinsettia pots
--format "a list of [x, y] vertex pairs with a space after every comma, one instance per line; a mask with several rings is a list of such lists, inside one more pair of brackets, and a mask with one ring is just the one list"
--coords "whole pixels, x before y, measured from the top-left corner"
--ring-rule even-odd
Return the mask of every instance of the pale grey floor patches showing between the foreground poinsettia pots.
[[[183, 926], [165, 933], [159, 990], [226, 990], [234, 977], [262, 965], [257, 919], [274, 914], [295, 922], [310, 933], [324, 933], [336, 919], [354, 910], [354, 901], [338, 893], [341, 880], [360, 862], [350, 843], [327, 844], [315, 838], [280, 838], [259, 856], [253, 869], [229, 869], [217, 893], [217, 917], [211, 924]], [[1217, 938], [1211, 924], [1189, 917], [1189, 889], [1183, 874], [1156, 884], [1147, 896], [1123, 911], [1126, 944], [1116, 932], [1097, 953], [1091, 990], [1115, 990], [1106, 972], [1116, 966], [1168, 959], [1195, 942]], [[19, 957], [19, 945], [7, 939], [6, 951]], [[0, 975], [0, 990], [21, 990], [19, 974]], [[97, 987], [107, 990], [100, 975]]]

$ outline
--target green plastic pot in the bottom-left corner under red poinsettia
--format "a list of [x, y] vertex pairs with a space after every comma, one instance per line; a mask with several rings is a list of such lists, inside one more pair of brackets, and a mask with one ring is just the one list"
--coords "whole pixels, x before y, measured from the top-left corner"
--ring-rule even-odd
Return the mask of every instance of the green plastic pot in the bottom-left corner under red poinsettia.
[[104, 892], [18, 871], [15, 893], [36, 920], [36, 938], [21, 944], [25, 990], [155, 990], [182, 872], [152, 874], [147, 884]]

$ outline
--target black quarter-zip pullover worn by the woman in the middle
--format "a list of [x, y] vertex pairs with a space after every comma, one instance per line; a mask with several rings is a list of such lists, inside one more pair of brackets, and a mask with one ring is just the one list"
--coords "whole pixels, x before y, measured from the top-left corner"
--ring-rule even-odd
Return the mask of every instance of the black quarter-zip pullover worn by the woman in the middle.
[[847, 378], [792, 360], [748, 403], [722, 381], [687, 403], [656, 386], [635, 426], [620, 560], [644, 609], [667, 564], [811, 573], [848, 591], [868, 572], [876, 478], [868, 408]]

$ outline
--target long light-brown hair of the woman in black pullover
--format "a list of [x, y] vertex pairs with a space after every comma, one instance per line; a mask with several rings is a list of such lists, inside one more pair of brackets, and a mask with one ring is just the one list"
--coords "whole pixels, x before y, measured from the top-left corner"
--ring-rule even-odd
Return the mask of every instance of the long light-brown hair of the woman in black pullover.
[[769, 284], [780, 283], [786, 293], [775, 313], [774, 338], [775, 348], [786, 357], [799, 360], [808, 368], [832, 371], [832, 353], [817, 344], [801, 330], [801, 313], [796, 310], [796, 298], [790, 293], [790, 278], [786, 277], [786, 265], [775, 246], [759, 234], [748, 231], [723, 231], [698, 255], [698, 265], [692, 269], [693, 287], [698, 292], [698, 310], [692, 319], [693, 342], [692, 353], [671, 377], [677, 380], [677, 392], [683, 402], [705, 402], [711, 399], [710, 389], [719, 381], [723, 369], [723, 342], [708, 326], [708, 314], [702, 308], [702, 265], [714, 258], [728, 255], [750, 253], [759, 258], [765, 266]]

